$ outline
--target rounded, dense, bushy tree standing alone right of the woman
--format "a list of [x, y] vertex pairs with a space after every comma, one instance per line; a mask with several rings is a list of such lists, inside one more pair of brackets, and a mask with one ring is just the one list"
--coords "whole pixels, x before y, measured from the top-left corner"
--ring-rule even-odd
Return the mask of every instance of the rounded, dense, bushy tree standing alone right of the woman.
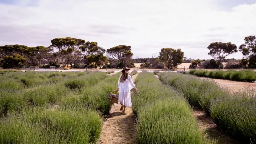
[[159, 52], [159, 59], [164, 62], [168, 69], [177, 67], [177, 65], [183, 63], [184, 52], [181, 49], [162, 48]]

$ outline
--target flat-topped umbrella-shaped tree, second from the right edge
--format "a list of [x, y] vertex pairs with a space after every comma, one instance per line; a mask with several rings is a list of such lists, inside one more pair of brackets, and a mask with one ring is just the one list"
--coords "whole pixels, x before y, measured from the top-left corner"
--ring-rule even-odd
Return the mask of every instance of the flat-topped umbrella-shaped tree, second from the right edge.
[[238, 52], [236, 45], [232, 44], [231, 42], [214, 42], [211, 43], [207, 48], [210, 50], [208, 55], [211, 55], [213, 58], [217, 59], [218, 64], [220, 64], [221, 60], [225, 59], [226, 56]]

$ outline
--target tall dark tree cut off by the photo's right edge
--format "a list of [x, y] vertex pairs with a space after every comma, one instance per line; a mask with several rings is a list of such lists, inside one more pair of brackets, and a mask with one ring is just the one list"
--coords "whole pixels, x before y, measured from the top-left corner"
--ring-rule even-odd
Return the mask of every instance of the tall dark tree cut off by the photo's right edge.
[[249, 68], [256, 68], [256, 37], [248, 36], [244, 38], [244, 44], [239, 46], [239, 51], [244, 55], [243, 65]]

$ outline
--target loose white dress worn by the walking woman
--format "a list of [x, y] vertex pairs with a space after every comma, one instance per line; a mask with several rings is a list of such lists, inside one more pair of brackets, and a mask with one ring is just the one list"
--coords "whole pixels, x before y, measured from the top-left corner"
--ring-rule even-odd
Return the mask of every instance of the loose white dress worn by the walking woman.
[[132, 107], [130, 90], [133, 89], [135, 85], [133, 84], [130, 75], [128, 75], [128, 78], [123, 83], [121, 83], [121, 76], [118, 80], [119, 102], [125, 106]]

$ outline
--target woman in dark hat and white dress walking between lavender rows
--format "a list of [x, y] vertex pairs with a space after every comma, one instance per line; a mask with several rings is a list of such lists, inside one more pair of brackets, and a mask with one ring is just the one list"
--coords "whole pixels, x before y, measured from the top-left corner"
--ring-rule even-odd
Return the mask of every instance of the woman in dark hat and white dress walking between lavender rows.
[[116, 89], [116, 92], [119, 89], [119, 102], [121, 104], [120, 111], [122, 111], [122, 114], [125, 114], [125, 107], [131, 107], [131, 93], [130, 90], [135, 88], [135, 85], [133, 84], [131, 80], [131, 76], [129, 75], [129, 70], [127, 67], [124, 67], [122, 72], [122, 75], [119, 77], [118, 80], [118, 88]]

